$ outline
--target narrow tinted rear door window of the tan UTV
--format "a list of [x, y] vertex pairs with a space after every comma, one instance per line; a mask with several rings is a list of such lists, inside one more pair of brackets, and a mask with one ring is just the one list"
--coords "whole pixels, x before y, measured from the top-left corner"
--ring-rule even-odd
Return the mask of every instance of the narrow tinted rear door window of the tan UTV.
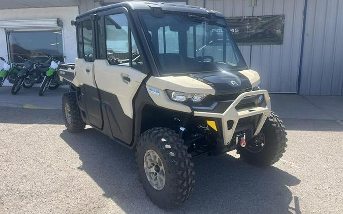
[[82, 22], [82, 40], [83, 40], [83, 55], [84, 60], [88, 62], [94, 61], [93, 57], [93, 31], [90, 20]]

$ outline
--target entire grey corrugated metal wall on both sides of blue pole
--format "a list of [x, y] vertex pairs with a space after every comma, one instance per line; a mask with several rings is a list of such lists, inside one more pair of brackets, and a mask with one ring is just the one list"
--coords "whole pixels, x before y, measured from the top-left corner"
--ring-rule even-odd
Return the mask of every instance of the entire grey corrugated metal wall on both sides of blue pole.
[[[226, 16], [285, 14], [283, 45], [240, 46], [270, 92], [297, 93], [305, 0], [206, 0]], [[203, 7], [203, 0], [189, 0]], [[300, 94], [343, 95], [343, 0], [308, 0]]]

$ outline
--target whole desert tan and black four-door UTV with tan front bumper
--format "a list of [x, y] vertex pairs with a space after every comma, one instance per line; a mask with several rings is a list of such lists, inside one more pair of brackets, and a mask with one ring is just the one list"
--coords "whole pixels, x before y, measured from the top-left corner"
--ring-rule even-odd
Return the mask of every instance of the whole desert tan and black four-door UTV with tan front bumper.
[[[147, 196], [168, 209], [195, 185], [192, 159], [237, 150], [267, 166], [286, 148], [260, 77], [225, 17], [194, 6], [124, 2], [80, 14], [78, 58], [60, 64], [66, 127], [85, 125], [136, 150]], [[230, 167], [228, 163], [228, 167]]]

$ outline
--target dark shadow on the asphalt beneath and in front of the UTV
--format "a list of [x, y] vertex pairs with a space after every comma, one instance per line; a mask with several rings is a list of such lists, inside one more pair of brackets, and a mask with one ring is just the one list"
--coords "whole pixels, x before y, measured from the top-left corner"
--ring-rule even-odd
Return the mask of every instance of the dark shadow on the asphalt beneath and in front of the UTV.
[[[137, 179], [134, 152], [89, 128], [78, 134], [64, 130], [60, 137], [79, 154], [85, 171], [123, 211], [161, 213], [145, 196]], [[289, 213], [292, 192], [300, 183], [295, 176], [270, 166], [258, 168], [228, 154], [194, 160], [196, 187], [178, 213]], [[101, 196], [99, 196], [101, 197]]]

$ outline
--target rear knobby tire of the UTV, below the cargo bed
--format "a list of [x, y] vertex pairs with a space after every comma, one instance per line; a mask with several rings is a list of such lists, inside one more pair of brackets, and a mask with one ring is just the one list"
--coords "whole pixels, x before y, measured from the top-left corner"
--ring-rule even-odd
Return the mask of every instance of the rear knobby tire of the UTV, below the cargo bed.
[[81, 118], [75, 92], [69, 92], [63, 95], [62, 111], [68, 131], [75, 133], [85, 128], [86, 124]]

